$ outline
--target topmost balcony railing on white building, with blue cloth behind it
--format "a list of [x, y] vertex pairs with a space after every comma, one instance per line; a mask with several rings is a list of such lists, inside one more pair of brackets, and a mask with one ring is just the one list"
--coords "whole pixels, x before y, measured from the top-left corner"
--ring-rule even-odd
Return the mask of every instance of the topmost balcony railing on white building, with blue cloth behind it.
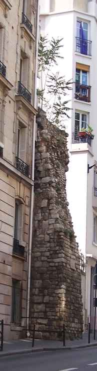
[[91, 41], [76, 37], [76, 52], [85, 56], [91, 56]]

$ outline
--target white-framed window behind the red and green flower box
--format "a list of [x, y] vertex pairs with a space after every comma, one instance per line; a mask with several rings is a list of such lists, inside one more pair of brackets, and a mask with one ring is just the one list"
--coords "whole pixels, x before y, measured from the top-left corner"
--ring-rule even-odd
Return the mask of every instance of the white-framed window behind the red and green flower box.
[[78, 139], [80, 129], [86, 129], [88, 125], [88, 115], [84, 112], [75, 112], [74, 140]]

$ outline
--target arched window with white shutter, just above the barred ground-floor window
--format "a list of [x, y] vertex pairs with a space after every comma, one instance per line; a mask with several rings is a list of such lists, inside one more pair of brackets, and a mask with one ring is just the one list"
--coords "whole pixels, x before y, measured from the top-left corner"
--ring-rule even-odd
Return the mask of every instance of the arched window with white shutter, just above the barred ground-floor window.
[[15, 201], [14, 240], [23, 241], [23, 208], [24, 205]]

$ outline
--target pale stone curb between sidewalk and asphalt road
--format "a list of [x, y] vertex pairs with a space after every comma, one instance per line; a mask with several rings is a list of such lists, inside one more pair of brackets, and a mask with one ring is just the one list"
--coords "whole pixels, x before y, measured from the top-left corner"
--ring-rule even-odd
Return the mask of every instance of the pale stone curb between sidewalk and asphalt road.
[[77, 350], [77, 349], [84, 349], [90, 348], [93, 346], [97, 346], [97, 343], [91, 344], [84, 344], [84, 345], [74, 345], [74, 346], [58, 346], [58, 347], [43, 347], [43, 348], [33, 348], [33, 349], [22, 349], [22, 350], [13, 350], [9, 352], [0, 352], [0, 357], [5, 357], [9, 355], [19, 355], [19, 354], [26, 354], [26, 353], [35, 353], [35, 352], [42, 352], [42, 351], [56, 351], [56, 350]]

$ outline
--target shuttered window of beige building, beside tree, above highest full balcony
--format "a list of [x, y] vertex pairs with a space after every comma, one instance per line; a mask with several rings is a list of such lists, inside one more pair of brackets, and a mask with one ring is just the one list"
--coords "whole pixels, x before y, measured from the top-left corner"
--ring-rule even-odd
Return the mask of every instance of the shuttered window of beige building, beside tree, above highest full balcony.
[[25, 88], [28, 87], [28, 61], [26, 55], [21, 52], [19, 81]]

